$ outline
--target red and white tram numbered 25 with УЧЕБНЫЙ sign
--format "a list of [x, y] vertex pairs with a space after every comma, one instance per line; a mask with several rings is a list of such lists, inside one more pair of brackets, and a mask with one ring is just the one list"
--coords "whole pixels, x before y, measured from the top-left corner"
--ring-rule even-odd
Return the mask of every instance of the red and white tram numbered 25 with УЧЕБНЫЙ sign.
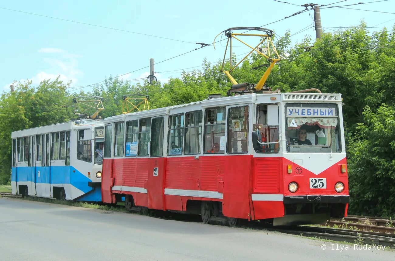
[[274, 225], [344, 217], [340, 94], [209, 98], [106, 118], [102, 200]]

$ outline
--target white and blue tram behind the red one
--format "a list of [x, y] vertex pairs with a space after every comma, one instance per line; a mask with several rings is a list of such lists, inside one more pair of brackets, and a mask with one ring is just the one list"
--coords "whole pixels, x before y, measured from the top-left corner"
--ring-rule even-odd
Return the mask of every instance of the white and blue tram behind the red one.
[[13, 194], [102, 201], [104, 125], [75, 120], [14, 131]]

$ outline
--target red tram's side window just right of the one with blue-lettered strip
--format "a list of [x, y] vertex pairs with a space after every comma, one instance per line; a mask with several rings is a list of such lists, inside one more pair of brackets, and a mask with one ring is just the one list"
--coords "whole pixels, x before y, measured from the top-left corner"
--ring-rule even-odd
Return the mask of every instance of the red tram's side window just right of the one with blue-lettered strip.
[[202, 116], [201, 111], [185, 115], [184, 154], [200, 154]]

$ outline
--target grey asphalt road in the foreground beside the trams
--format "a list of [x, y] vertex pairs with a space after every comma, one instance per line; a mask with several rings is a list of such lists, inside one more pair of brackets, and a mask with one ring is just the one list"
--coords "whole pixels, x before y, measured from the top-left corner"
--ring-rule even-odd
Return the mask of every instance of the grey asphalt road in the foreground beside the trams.
[[6, 261], [395, 260], [393, 251], [331, 244], [270, 231], [0, 198], [0, 260]]

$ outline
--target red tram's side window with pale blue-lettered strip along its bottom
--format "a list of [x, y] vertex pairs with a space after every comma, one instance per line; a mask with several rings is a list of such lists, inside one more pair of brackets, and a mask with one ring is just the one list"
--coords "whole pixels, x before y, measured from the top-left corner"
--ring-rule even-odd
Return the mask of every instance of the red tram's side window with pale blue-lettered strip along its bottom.
[[181, 155], [184, 143], [184, 115], [169, 117], [169, 141], [167, 143], [167, 155]]

